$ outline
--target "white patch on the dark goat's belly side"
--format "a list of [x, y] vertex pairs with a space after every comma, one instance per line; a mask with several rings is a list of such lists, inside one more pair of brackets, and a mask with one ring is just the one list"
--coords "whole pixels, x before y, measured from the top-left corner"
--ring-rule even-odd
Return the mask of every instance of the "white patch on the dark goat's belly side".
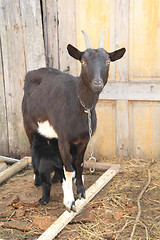
[[38, 129], [37, 131], [46, 138], [58, 138], [57, 133], [55, 132], [53, 126], [50, 125], [48, 121], [37, 122]]

